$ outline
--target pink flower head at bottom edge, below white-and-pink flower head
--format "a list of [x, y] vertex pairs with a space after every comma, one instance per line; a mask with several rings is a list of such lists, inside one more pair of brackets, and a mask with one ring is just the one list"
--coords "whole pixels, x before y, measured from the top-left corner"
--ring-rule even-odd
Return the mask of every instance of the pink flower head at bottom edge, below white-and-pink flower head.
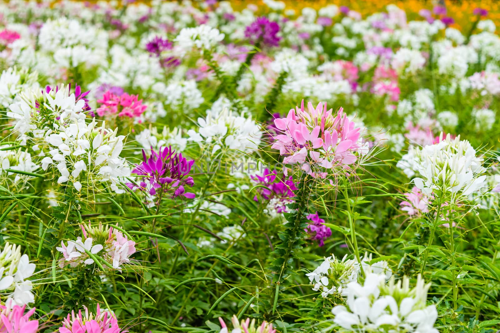
[[59, 328], [59, 333], [126, 333], [118, 326], [116, 317], [109, 311], [100, 311], [97, 304], [95, 315], [88, 312], [85, 308], [85, 316], [82, 316], [81, 310], [75, 315], [71, 311], [71, 315], [62, 322], [62, 327]]

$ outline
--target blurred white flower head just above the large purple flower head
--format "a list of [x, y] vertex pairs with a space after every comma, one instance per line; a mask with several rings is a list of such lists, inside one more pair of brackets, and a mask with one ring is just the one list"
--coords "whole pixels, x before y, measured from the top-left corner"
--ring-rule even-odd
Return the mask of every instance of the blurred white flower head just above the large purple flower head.
[[170, 130], [163, 126], [161, 132], [158, 132], [157, 127], [145, 128], [135, 135], [135, 141], [146, 151], [151, 147], [157, 150], [160, 147], [172, 146], [175, 151], [182, 152], [187, 145], [187, 139], [182, 137], [180, 127]]

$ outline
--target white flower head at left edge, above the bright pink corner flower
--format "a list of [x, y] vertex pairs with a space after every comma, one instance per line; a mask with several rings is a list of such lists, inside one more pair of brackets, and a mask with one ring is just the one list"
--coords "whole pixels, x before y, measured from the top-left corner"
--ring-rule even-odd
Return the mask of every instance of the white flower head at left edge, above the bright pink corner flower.
[[27, 255], [21, 256], [20, 246], [5, 243], [0, 252], [0, 292], [6, 295], [7, 302], [19, 306], [34, 302], [31, 281], [27, 279], [35, 268]]

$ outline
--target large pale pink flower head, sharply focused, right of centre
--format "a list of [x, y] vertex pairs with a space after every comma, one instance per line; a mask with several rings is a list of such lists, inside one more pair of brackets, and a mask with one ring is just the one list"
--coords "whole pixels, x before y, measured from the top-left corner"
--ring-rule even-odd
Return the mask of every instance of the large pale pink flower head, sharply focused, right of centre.
[[283, 163], [299, 164], [313, 177], [353, 170], [359, 157], [368, 152], [361, 129], [347, 118], [343, 108], [333, 112], [326, 109], [326, 103], [314, 108], [309, 102], [305, 109], [302, 100], [300, 108], [291, 109], [286, 118], [274, 119], [274, 125], [282, 134], [273, 136], [272, 148], [286, 156]]

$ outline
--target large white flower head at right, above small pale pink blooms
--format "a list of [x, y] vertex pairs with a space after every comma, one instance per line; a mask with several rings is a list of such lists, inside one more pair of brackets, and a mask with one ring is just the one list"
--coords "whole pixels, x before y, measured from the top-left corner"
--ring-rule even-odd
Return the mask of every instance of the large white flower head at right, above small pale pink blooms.
[[467, 140], [460, 140], [460, 136], [454, 139], [449, 134], [446, 138], [442, 136], [441, 133], [438, 143], [410, 147], [396, 166], [409, 177], [412, 173], [420, 176], [412, 181], [426, 195], [439, 192], [456, 199], [481, 190], [486, 178], [483, 159], [476, 157], [474, 148]]

